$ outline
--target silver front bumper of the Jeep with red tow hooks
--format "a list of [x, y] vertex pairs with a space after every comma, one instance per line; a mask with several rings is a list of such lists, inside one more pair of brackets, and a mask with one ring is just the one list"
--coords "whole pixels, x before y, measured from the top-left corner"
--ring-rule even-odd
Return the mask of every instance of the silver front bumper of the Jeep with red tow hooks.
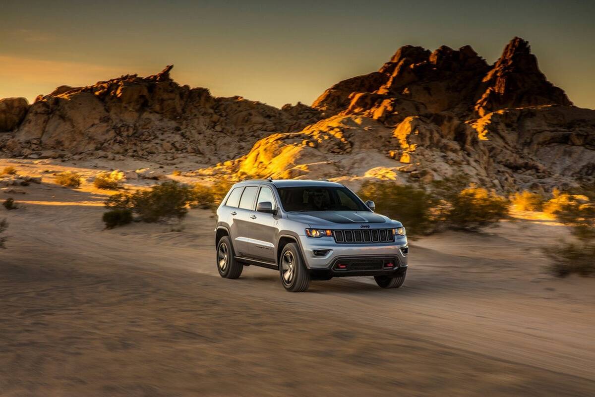
[[[394, 242], [369, 244], [337, 244], [333, 237], [311, 238], [299, 236], [303, 259], [311, 274], [340, 276], [368, 276], [399, 273], [408, 265], [406, 236], [397, 236]], [[340, 270], [335, 265], [339, 260], [392, 259], [393, 269]]]

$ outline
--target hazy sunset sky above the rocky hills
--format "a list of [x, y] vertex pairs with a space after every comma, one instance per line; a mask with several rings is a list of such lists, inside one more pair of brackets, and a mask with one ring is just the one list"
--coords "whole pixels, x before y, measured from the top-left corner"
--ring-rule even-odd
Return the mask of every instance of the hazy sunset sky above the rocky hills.
[[552, 83], [595, 109], [594, 17], [593, 0], [0, 0], [0, 98], [174, 64], [174, 80], [215, 96], [309, 105], [402, 45], [471, 45], [492, 63], [519, 36]]

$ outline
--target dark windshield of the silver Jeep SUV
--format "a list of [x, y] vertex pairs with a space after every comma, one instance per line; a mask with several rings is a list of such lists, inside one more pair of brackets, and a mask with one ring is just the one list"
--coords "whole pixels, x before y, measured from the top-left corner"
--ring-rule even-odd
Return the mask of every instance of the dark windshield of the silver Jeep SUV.
[[281, 187], [277, 191], [287, 212], [369, 211], [346, 187]]

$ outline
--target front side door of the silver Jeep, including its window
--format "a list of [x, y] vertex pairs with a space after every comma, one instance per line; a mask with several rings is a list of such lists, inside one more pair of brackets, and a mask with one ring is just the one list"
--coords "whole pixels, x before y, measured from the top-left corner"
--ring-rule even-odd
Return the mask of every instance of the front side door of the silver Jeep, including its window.
[[[269, 201], [273, 204], [273, 208], [278, 208], [277, 200], [268, 186], [261, 186], [258, 191], [256, 199], [256, 207], [262, 201]], [[264, 260], [270, 263], [275, 263], [277, 260], [275, 256], [275, 244], [277, 243], [277, 222], [278, 216], [264, 213], [254, 212], [253, 217], [250, 216], [252, 225], [250, 226], [250, 257], [258, 260]]]

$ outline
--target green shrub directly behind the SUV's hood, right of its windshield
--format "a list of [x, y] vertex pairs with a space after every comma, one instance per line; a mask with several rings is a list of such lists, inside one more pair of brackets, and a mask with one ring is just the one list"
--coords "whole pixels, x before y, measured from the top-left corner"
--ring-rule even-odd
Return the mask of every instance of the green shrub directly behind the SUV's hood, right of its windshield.
[[372, 200], [378, 212], [403, 223], [409, 238], [436, 231], [433, 213], [436, 197], [409, 185], [365, 182], [358, 191], [362, 200]]

